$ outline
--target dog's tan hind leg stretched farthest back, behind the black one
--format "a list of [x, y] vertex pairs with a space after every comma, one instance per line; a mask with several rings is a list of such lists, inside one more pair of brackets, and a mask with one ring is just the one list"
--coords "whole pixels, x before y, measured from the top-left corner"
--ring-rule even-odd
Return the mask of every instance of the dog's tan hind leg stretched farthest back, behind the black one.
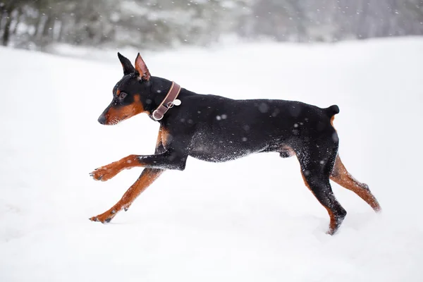
[[331, 171], [331, 180], [335, 181], [343, 188], [355, 192], [355, 194], [367, 202], [367, 204], [369, 204], [375, 212], [379, 212], [381, 210], [381, 206], [379, 205], [379, 202], [377, 202], [376, 197], [374, 197], [372, 192], [370, 192], [369, 186], [367, 186], [367, 184], [358, 182], [355, 178], [353, 178], [353, 176], [350, 175], [350, 173], [348, 173], [339, 155], [336, 156], [335, 165]]

